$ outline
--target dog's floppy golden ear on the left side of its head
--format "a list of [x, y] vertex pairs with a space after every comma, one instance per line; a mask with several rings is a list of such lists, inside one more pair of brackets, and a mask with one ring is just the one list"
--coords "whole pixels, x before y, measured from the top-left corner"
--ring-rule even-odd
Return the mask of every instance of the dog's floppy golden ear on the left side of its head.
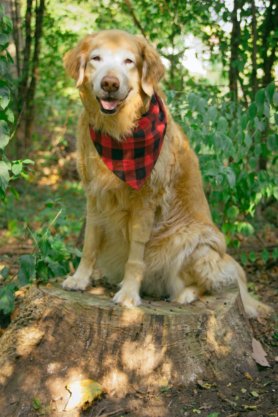
[[83, 83], [84, 71], [86, 68], [85, 55], [95, 35], [86, 35], [78, 45], [65, 54], [63, 62], [68, 74], [76, 80], [75, 87], [80, 87]]

